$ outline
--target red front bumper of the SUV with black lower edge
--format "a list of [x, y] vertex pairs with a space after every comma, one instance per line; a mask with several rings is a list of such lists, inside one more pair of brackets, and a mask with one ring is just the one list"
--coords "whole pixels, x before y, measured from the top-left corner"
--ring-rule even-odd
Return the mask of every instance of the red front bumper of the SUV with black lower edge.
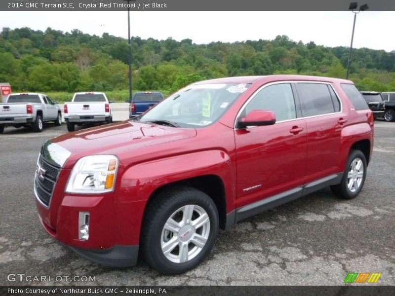
[[[146, 201], [114, 202], [111, 195], [61, 195], [59, 199], [56, 191], [49, 207], [36, 198], [41, 225], [49, 235], [98, 264], [136, 264]], [[80, 212], [90, 214], [88, 240], [79, 238]]]

